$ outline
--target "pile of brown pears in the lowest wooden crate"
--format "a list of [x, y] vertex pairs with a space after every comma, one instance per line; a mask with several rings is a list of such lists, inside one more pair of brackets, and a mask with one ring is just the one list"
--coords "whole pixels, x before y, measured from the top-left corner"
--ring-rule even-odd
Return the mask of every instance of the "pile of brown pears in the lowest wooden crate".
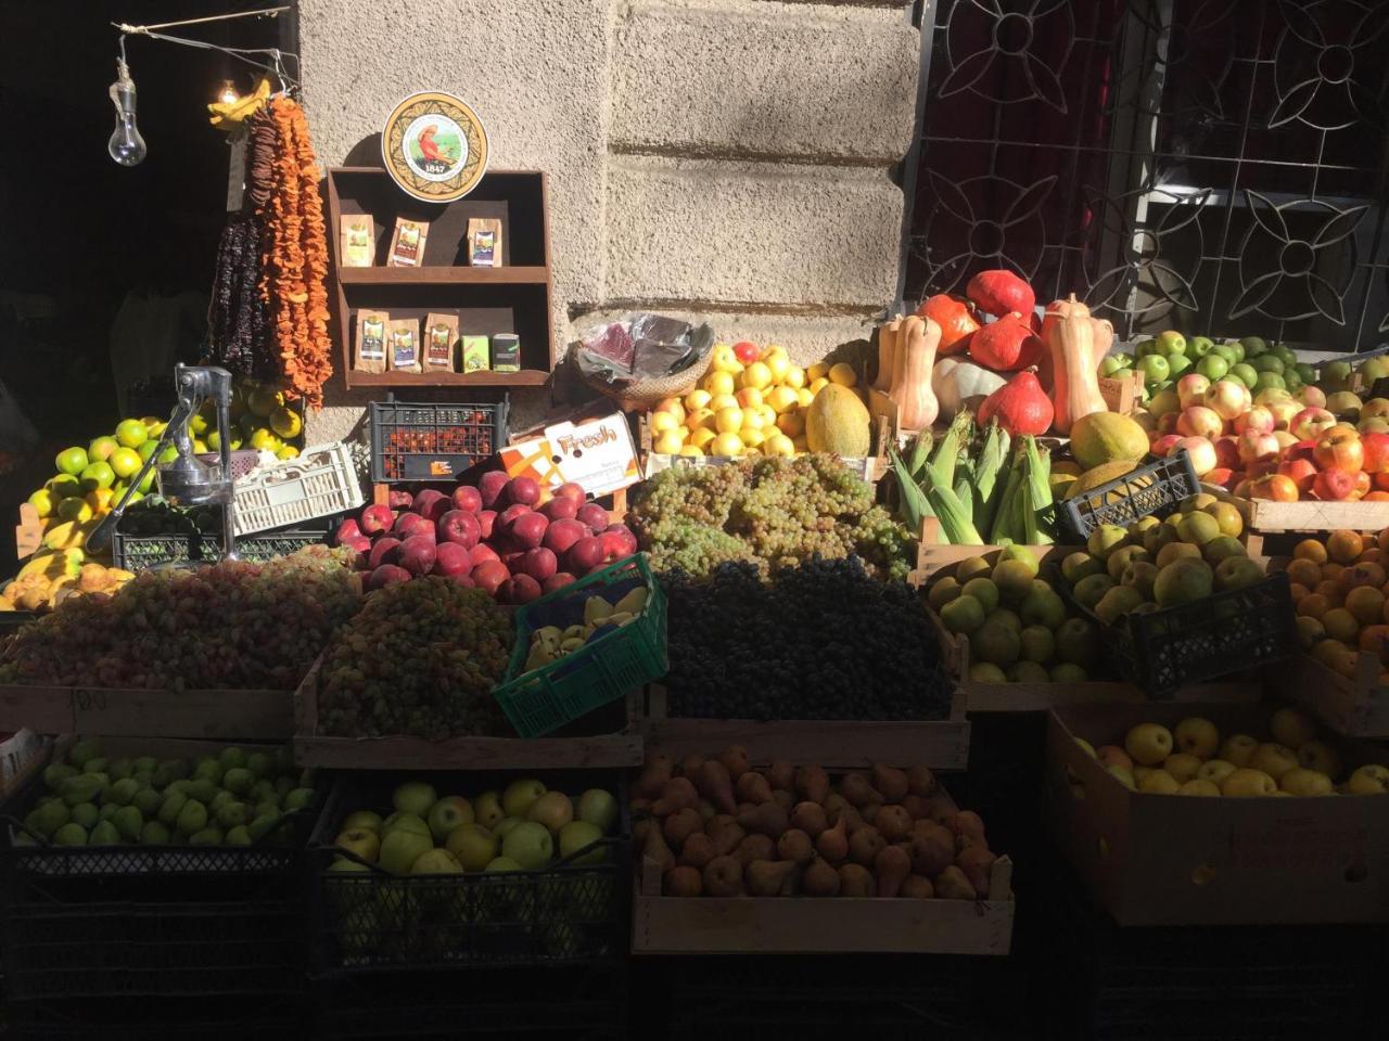
[[982, 899], [996, 856], [925, 766], [753, 769], [747, 750], [646, 761], [632, 811], [638, 856], [667, 897]]

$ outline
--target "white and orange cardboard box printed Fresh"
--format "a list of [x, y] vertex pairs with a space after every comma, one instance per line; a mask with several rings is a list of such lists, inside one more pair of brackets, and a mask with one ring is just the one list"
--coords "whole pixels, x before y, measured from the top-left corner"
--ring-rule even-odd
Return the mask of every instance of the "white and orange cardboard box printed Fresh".
[[589, 423], [547, 426], [544, 436], [501, 450], [513, 477], [532, 477], [542, 489], [572, 480], [590, 496], [606, 496], [642, 479], [632, 430], [621, 412]]

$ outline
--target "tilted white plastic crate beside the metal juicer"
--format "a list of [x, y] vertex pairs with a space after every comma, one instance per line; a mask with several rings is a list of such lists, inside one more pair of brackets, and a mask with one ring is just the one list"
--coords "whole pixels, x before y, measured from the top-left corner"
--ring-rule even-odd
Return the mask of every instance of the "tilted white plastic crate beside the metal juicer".
[[346, 444], [315, 444], [236, 482], [236, 536], [356, 509], [361, 482]]

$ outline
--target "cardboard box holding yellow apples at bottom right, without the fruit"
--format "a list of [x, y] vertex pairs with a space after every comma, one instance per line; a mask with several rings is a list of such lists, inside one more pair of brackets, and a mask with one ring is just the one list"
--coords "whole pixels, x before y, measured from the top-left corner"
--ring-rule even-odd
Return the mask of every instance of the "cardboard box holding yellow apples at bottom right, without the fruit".
[[[1222, 736], [1265, 736], [1271, 708], [1088, 705], [1051, 711], [1043, 820], [1121, 926], [1389, 920], [1389, 797], [1188, 798], [1131, 791], [1093, 759], [1129, 727], [1204, 716]], [[1357, 741], [1349, 768], [1389, 763]]]

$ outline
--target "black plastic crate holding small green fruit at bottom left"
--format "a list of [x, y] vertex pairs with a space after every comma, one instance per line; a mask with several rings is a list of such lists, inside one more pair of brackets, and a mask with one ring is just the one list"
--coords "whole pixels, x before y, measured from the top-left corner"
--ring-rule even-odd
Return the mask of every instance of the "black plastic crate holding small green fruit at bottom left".
[[19, 822], [43, 794], [40, 773], [0, 806], [7, 1004], [301, 995], [313, 812], [290, 816], [288, 840], [249, 847], [21, 844]]

